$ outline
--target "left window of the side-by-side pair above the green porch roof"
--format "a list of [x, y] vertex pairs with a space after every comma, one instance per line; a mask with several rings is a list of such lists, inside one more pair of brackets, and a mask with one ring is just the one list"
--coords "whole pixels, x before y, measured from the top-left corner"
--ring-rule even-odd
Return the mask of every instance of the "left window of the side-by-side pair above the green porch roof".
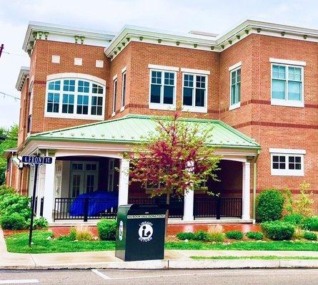
[[175, 74], [172, 71], [150, 71], [149, 108], [167, 110], [175, 107]]

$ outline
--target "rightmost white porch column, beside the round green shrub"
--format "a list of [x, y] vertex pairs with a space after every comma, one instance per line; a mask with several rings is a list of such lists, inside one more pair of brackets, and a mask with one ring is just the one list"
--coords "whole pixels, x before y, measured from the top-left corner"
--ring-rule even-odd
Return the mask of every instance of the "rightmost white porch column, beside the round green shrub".
[[243, 175], [242, 175], [242, 219], [250, 219], [250, 200], [251, 200], [251, 163], [243, 162]]

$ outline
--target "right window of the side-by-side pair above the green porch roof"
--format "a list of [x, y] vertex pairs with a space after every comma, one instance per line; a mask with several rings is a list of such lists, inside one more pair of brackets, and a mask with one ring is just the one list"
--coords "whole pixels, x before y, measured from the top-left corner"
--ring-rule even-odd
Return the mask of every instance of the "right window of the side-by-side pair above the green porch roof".
[[183, 74], [183, 110], [207, 112], [207, 76]]

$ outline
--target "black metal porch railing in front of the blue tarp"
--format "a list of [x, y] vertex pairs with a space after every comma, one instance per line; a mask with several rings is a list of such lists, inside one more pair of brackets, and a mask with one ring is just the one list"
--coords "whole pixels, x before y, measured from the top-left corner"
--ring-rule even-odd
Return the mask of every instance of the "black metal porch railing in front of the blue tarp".
[[55, 198], [54, 221], [57, 219], [101, 219], [116, 217], [117, 207], [109, 205], [109, 199]]

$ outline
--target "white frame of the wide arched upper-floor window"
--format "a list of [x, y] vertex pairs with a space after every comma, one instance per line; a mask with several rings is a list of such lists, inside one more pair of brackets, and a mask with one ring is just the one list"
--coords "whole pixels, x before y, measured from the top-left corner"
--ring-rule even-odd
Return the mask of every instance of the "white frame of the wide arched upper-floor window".
[[[64, 80], [74, 80], [75, 81], [75, 89], [73, 91], [64, 91]], [[61, 87], [60, 90], [49, 90], [49, 83], [54, 81], [61, 81]], [[79, 81], [88, 81], [89, 82], [89, 93], [79, 93], [78, 92], [78, 86]], [[96, 84], [98, 86], [101, 86], [103, 88], [103, 93], [93, 93], [93, 84]], [[45, 96], [45, 110], [44, 110], [44, 117], [46, 118], [67, 118], [67, 119], [84, 119], [84, 120], [104, 120], [104, 114], [105, 114], [105, 92], [106, 88], [104, 84], [101, 84], [96, 81], [91, 81], [86, 78], [54, 78], [49, 81], [46, 81], [46, 96]], [[47, 104], [48, 104], [48, 97], [49, 93], [59, 93], [59, 113], [53, 113], [47, 111]], [[63, 94], [74, 94], [74, 110], [73, 113], [62, 113], [62, 105], [63, 105]], [[88, 105], [88, 114], [76, 114], [76, 106], [77, 106], [77, 98], [78, 95], [88, 95], [89, 96], [89, 105]], [[102, 97], [103, 98], [103, 105], [101, 108], [101, 115], [91, 115], [91, 99], [93, 96]]]

